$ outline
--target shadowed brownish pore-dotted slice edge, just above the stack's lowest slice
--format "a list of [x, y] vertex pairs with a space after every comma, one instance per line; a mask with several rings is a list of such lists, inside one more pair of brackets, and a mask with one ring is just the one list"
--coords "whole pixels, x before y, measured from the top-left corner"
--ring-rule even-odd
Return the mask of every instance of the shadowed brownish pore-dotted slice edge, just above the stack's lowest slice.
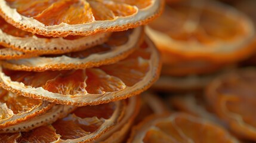
[[50, 110], [43, 114], [38, 114], [38, 116], [35, 116], [24, 122], [0, 129], [0, 133], [29, 132], [32, 129], [44, 125], [49, 125], [58, 119], [66, 117], [67, 114], [69, 114], [75, 108], [76, 107], [69, 105], [54, 105], [53, 108], [50, 108]]

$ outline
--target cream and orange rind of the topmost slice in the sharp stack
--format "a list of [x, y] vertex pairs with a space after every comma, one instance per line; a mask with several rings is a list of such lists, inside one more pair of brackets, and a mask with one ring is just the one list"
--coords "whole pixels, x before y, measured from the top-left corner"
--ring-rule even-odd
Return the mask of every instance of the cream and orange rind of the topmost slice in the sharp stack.
[[[2, 11], [2, 7], [5, 7], [7, 4], [5, 4], [4, 0], [0, 1], [0, 15], [10, 24], [12, 24], [13, 26], [17, 27], [18, 29], [22, 29], [24, 31], [27, 32], [32, 32], [32, 33], [36, 33], [38, 35], [44, 35], [44, 36], [53, 36], [53, 37], [65, 37], [68, 35], [81, 35], [81, 36], [89, 36], [89, 35], [95, 35], [97, 33], [104, 33], [104, 32], [117, 32], [117, 31], [123, 31], [123, 30], [128, 30], [128, 29], [132, 29], [138, 26], [142, 26], [145, 25], [147, 23], [149, 23], [150, 21], [154, 20], [156, 17], [158, 17], [159, 15], [162, 14], [162, 11], [164, 10], [164, 4], [165, 1], [164, 0], [154, 0], [154, 4], [156, 2], [159, 2], [158, 4], [158, 8], [156, 8], [157, 10], [155, 10], [154, 14], [152, 15], [147, 15], [145, 18], [143, 18], [143, 20], [140, 21], [134, 21], [134, 23], [131, 23], [132, 19], [137, 15], [137, 13], [128, 17], [118, 17], [117, 19], [120, 21], [125, 20], [125, 18], [130, 19], [127, 23], [122, 24], [122, 25], [113, 25], [113, 26], [109, 26], [109, 27], [104, 27], [103, 25], [107, 26], [107, 23], [111, 24], [113, 23], [113, 20], [105, 20], [105, 21], [94, 21], [92, 23], [87, 23], [87, 24], [76, 24], [75, 26], [69, 25], [69, 24], [64, 24], [61, 23], [62, 26], [69, 26], [68, 29], [61, 29], [60, 25], [57, 26], [44, 26], [44, 24], [40, 23], [40, 28], [37, 27], [30, 27], [27, 26], [24, 23], [21, 23], [20, 21], [16, 21], [14, 18], [15, 15], [18, 15], [19, 17], [21, 17], [21, 19], [27, 19], [27, 17], [24, 17], [23, 15], [20, 15], [17, 13], [13, 14], [13, 17], [10, 17], [10, 14], [6, 14], [4, 13], [4, 11]], [[1, 7], [1, 5], [3, 5]], [[152, 5], [151, 5], [152, 6]], [[6, 6], [8, 7], [8, 6]], [[10, 8], [10, 7], [9, 7]], [[147, 9], [147, 8], [145, 8]], [[139, 10], [138, 13], [140, 13], [141, 10]], [[144, 10], [145, 12], [146, 10]], [[38, 21], [39, 23], [39, 21]], [[118, 22], [117, 22], [118, 23]], [[31, 23], [30, 23], [31, 24]], [[85, 25], [84, 27], [82, 27], [83, 25]], [[95, 25], [94, 28], [92, 28], [92, 30], [85, 30], [85, 29], [89, 29], [91, 28], [92, 25]], [[103, 27], [100, 27], [103, 26]], [[56, 28], [59, 27], [59, 29], [61, 30], [57, 30]], [[70, 29], [70, 27], [73, 28], [73, 30]], [[75, 30], [77, 27], [79, 27], [79, 31]], [[89, 28], [88, 28], [89, 27]]]

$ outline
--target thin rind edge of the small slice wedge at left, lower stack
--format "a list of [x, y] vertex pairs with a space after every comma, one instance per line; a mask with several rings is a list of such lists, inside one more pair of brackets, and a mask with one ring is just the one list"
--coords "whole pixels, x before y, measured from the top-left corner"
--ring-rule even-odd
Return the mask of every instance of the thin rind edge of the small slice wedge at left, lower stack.
[[[44, 101], [44, 102], [47, 102], [47, 101]], [[44, 102], [43, 102], [43, 104], [44, 104]], [[51, 102], [48, 102], [46, 104], [47, 105], [45, 107], [42, 107], [41, 110], [37, 110], [32, 114], [28, 114], [27, 116], [21, 117], [17, 120], [11, 120], [4, 124], [0, 124], [0, 132], [1, 132], [1, 129], [8, 128], [8, 127], [14, 126], [14, 125], [18, 125], [20, 123], [26, 122], [27, 120], [33, 119], [34, 117], [36, 117], [40, 114], [44, 114], [45, 112], [47, 112], [48, 110], [53, 108], [53, 106], [55, 105], [54, 103], [51, 103]]]

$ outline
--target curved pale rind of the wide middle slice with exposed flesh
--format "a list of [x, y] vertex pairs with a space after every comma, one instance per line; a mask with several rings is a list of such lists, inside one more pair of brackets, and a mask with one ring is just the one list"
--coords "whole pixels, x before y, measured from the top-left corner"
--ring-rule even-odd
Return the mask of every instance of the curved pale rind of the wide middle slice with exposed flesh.
[[[118, 100], [124, 100], [126, 98], [132, 97], [134, 95], [138, 95], [143, 91], [146, 91], [146, 89], [150, 88], [150, 86], [153, 85], [154, 82], [156, 82], [156, 80], [158, 80], [159, 76], [160, 76], [160, 72], [161, 72], [161, 67], [162, 67], [162, 63], [160, 60], [160, 55], [158, 50], [156, 49], [155, 45], [153, 44], [152, 41], [150, 41], [149, 38], [145, 38], [145, 41], [147, 42], [147, 44], [150, 46], [152, 46], [152, 55], [150, 57], [151, 59], [151, 63], [150, 64], [150, 69], [148, 73], [146, 74], [146, 76], [143, 78], [143, 80], [141, 80], [138, 83], [135, 83], [134, 86], [131, 86], [133, 88], [139, 86], [140, 84], [143, 83], [143, 87], [140, 88], [135, 88], [135, 89], [130, 89], [125, 88], [121, 91], [117, 91], [117, 92], [106, 92], [105, 94], [101, 94], [101, 95], [96, 95], [96, 94], [87, 94], [86, 96], [75, 96], [75, 95], [70, 95], [72, 97], [69, 98], [70, 101], [65, 101], [65, 100], [60, 100], [60, 97], [63, 96], [61, 94], [54, 94], [53, 92], [48, 92], [45, 91], [42, 88], [32, 88], [31, 86], [25, 86], [23, 83], [18, 83], [18, 82], [13, 82], [11, 81], [11, 79], [7, 76], [5, 76], [5, 74], [2, 72], [2, 67], [0, 67], [0, 86], [2, 86], [2, 88], [6, 89], [7, 91], [11, 91], [14, 92], [18, 95], [22, 95], [25, 97], [32, 97], [34, 99], [38, 99], [38, 100], [45, 100], [45, 101], [49, 101], [49, 102], [55, 102], [57, 104], [65, 104], [65, 105], [76, 105], [76, 106], [85, 106], [85, 105], [98, 105], [98, 104], [104, 104], [107, 102], [113, 102], [113, 101], [118, 101]], [[153, 59], [153, 60], [152, 60]], [[151, 74], [150, 74], [151, 73]], [[150, 76], [150, 77], [149, 77]], [[2, 78], [8, 79], [10, 81], [4, 81]], [[150, 78], [150, 80], [146, 80], [147, 78]], [[18, 86], [13, 86], [10, 85], [13, 84], [14, 86], [20, 85], [23, 86], [22, 88], [18, 88]], [[27, 92], [27, 88], [30, 88], [33, 92], [35, 92], [35, 94], [31, 94]], [[42, 94], [47, 95], [50, 94], [51, 96], [54, 96], [55, 98], [49, 98], [46, 96], [42, 96], [42, 95], [36, 95], [36, 93], [38, 93], [39, 91], [43, 91]], [[132, 91], [132, 92], [131, 92]], [[65, 98], [67, 98], [67, 96], [69, 95], [64, 95]], [[90, 97], [89, 97], [90, 96]], [[59, 100], [56, 98], [58, 97]], [[106, 98], [108, 97], [108, 98]], [[92, 98], [92, 100], [89, 98]], [[75, 101], [76, 100], [76, 101]]]

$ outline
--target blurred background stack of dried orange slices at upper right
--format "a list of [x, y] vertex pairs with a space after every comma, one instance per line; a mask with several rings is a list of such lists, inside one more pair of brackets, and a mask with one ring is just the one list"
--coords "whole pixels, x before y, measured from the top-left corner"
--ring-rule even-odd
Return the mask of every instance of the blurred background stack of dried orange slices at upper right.
[[248, 58], [256, 47], [252, 20], [217, 1], [170, 2], [146, 33], [163, 59], [155, 88], [168, 90], [202, 89], [210, 74]]

